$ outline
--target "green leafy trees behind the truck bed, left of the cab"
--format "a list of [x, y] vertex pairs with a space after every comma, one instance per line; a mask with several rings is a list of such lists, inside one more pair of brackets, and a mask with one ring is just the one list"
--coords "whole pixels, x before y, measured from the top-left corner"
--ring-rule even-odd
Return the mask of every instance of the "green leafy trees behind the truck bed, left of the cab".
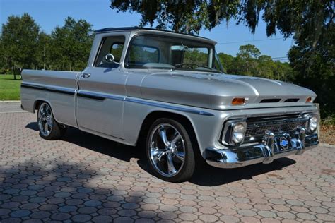
[[24, 68], [82, 71], [92, 42], [92, 25], [86, 20], [66, 18], [64, 26], [47, 35], [28, 13], [9, 16], [0, 36], [1, 73], [10, 69], [16, 78]]

